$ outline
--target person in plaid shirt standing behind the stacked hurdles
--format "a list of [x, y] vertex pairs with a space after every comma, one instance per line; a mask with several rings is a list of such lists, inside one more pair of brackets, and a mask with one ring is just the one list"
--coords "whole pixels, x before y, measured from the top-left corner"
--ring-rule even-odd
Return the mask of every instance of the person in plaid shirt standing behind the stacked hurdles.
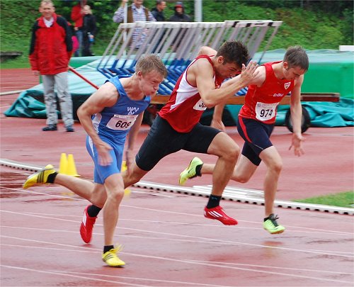
[[[125, 20], [125, 5], [128, 0], [122, 0], [120, 7], [115, 11], [113, 15], [113, 22], [122, 23]], [[143, 0], [133, 0], [132, 5], [127, 7], [127, 23], [134, 23], [137, 21], [156, 21], [152, 13], [144, 7]], [[140, 35], [141, 34], [141, 35]], [[142, 28], [136, 28], [134, 33], [132, 34], [132, 43], [131, 45], [135, 45], [135, 49], [139, 49], [139, 47], [144, 43], [145, 38], [147, 37], [146, 33], [142, 30]]]

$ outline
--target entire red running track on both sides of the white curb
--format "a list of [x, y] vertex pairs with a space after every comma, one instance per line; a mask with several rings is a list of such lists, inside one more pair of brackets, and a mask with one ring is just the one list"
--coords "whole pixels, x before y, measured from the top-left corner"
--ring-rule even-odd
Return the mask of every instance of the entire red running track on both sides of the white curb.
[[[0, 97], [1, 158], [59, 167], [60, 154], [72, 153], [79, 174], [91, 179], [81, 125], [75, 124], [75, 133], [64, 132], [62, 125], [58, 132], [43, 133], [45, 120], [3, 116], [13, 100]], [[142, 127], [136, 149], [148, 130]], [[241, 143], [234, 128], [228, 132]], [[272, 139], [284, 159], [277, 198], [352, 190], [353, 128], [310, 128], [305, 136], [306, 154], [296, 158], [287, 150], [290, 133], [275, 128]], [[181, 151], [166, 157], [144, 181], [176, 184], [193, 156]], [[241, 186], [261, 189], [264, 171], [261, 166]], [[84, 244], [79, 225], [87, 202], [55, 185], [23, 190], [28, 174], [1, 167], [1, 286], [354, 285], [353, 216], [277, 208], [287, 230], [269, 235], [262, 229], [263, 206], [222, 201], [239, 220], [224, 226], [202, 216], [207, 198], [130, 188], [116, 230], [127, 265], [113, 269], [101, 261], [102, 218], [91, 244]], [[210, 182], [203, 176], [188, 186]]]

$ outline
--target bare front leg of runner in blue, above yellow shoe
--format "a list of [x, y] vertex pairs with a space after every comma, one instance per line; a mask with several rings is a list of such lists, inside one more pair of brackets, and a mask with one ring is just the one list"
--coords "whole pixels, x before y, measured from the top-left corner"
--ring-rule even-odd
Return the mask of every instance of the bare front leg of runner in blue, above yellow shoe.
[[124, 196], [124, 183], [121, 174], [112, 174], [105, 179], [107, 200], [103, 206], [103, 229], [105, 246], [114, 245], [113, 236], [118, 223], [118, 209]]

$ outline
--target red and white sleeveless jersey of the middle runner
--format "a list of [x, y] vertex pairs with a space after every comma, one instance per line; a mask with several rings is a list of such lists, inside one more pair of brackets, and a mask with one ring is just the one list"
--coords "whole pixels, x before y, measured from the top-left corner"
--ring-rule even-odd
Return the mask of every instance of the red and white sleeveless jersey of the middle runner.
[[[159, 116], [169, 122], [171, 127], [178, 133], [188, 133], [199, 123], [202, 113], [207, 108], [200, 98], [198, 88], [187, 81], [189, 67], [198, 59], [207, 59], [212, 65], [212, 60], [207, 55], [196, 57], [185, 72], [178, 78], [169, 101], [159, 111]], [[214, 69], [214, 67], [212, 67]], [[218, 89], [224, 79], [217, 79], [214, 69], [215, 88]]]

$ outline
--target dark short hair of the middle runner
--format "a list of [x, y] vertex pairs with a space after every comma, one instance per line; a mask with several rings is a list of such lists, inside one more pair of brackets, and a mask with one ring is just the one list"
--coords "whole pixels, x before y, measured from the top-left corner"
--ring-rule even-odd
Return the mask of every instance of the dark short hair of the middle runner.
[[217, 51], [216, 57], [224, 57], [224, 64], [234, 63], [239, 68], [249, 62], [249, 49], [241, 41], [226, 41]]

